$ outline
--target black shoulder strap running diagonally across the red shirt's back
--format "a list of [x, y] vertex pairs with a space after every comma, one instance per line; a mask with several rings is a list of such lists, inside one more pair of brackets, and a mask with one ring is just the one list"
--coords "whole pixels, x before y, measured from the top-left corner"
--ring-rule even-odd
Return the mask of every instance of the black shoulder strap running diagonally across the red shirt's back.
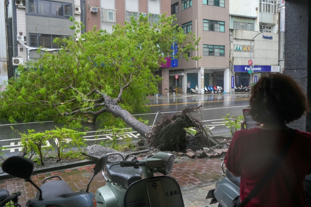
[[286, 139], [285, 145], [280, 152], [277, 159], [272, 164], [272, 167], [268, 170], [268, 172], [261, 178], [258, 182], [257, 186], [246, 196], [246, 198], [242, 201], [238, 207], [244, 207], [262, 188], [266, 185], [266, 183], [270, 180], [270, 178], [274, 175], [276, 170], [280, 167], [283, 159], [285, 158], [288, 150], [290, 149], [291, 144], [293, 143], [295, 138], [295, 130], [290, 129], [289, 136]]

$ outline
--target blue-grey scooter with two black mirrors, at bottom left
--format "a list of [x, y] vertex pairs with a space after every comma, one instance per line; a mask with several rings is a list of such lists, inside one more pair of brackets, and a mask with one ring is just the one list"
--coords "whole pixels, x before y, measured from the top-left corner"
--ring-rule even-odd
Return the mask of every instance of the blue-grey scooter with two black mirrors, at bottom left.
[[[102, 157], [98, 160], [94, 167], [94, 175], [87, 185], [86, 191], [73, 192], [71, 187], [63, 181], [59, 176], [50, 176], [44, 179], [43, 184], [38, 187], [31, 179], [31, 175], [34, 169], [34, 163], [30, 159], [26, 159], [20, 156], [12, 156], [6, 159], [2, 163], [2, 170], [14, 177], [19, 177], [30, 182], [35, 188], [38, 189], [36, 198], [27, 201], [27, 207], [46, 207], [46, 206], [81, 206], [81, 207], [93, 207], [96, 206], [95, 198], [92, 193], [89, 192], [90, 184], [97, 173], [104, 168], [104, 163], [107, 162], [107, 157]], [[51, 178], [58, 178], [59, 180], [52, 180], [46, 182]], [[1, 192], [1, 191], [0, 191]], [[4, 192], [6, 195], [7, 193]], [[13, 193], [0, 203], [0, 206], [5, 205], [10, 200], [13, 200], [15, 206], [18, 204], [18, 196], [20, 192]], [[0, 196], [1, 197], [1, 196]]]

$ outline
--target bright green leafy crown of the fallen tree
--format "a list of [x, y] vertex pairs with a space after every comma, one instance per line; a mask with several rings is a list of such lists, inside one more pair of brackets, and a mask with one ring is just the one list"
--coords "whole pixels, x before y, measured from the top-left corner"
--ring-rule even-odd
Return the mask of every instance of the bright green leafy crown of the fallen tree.
[[143, 107], [146, 94], [156, 93], [161, 81], [153, 72], [172, 53], [171, 45], [179, 45], [175, 58], [198, 45], [199, 39], [183, 34], [173, 18], [163, 14], [159, 24], [151, 25], [148, 17], [140, 16], [138, 21], [115, 25], [112, 33], [81, 34], [78, 41], [83, 25], [75, 22], [72, 37], [54, 39], [62, 49], [18, 67], [20, 77], [9, 80], [0, 92], [0, 118], [10, 122], [53, 119], [77, 127], [81, 121], [108, 120], [105, 95], [118, 98], [117, 104], [129, 112], [148, 110]]

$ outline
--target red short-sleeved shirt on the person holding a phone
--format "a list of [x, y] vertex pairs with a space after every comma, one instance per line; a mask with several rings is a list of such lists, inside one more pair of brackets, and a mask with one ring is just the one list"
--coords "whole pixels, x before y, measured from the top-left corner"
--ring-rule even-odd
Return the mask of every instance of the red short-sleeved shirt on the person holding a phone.
[[[311, 173], [311, 133], [295, 132], [282, 164], [246, 206], [306, 206], [303, 181]], [[241, 201], [272, 167], [288, 136], [288, 130], [259, 128], [234, 133], [224, 161], [231, 173], [241, 176]]]

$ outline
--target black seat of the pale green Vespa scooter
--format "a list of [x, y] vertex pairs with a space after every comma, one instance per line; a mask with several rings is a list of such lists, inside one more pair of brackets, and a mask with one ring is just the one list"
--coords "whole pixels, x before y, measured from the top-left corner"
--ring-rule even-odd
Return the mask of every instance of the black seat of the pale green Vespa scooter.
[[142, 179], [142, 168], [121, 167], [120, 162], [106, 164], [106, 176], [111, 182], [128, 188], [133, 182]]

